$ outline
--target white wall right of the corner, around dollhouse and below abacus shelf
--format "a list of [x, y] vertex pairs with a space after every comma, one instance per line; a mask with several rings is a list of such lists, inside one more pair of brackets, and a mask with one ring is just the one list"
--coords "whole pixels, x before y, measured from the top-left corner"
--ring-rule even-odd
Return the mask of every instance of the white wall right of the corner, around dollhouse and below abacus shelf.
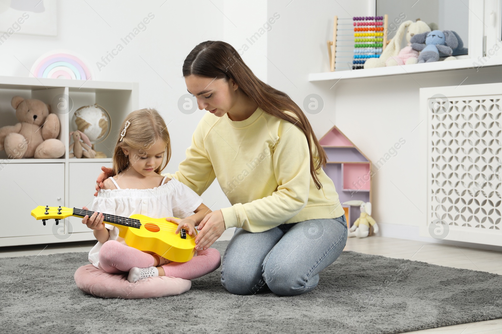
[[[269, 16], [281, 13], [280, 24], [268, 36], [269, 58], [277, 66], [269, 65], [269, 84], [288, 93], [301, 107], [308, 94], [320, 95], [324, 109], [316, 115], [306, 113], [318, 138], [336, 124], [373, 163], [400, 138], [406, 140], [397, 155], [376, 171], [373, 217], [388, 229], [393, 224], [413, 227], [401, 229], [403, 233], [394, 237], [419, 239], [416, 227], [424, 223], [426, 213], [425, 175], [420, 173], [425, 162], [417, 154], [419, 131], [413, 131], [423, 126], [418, 110], [419, 89], [459, 85], [464, 79], [462, 85], [501, 82], [500, 70], [468, 69], [311, 83], [309, 73], [329, 72], [326, 41], [332, 38], [333, 16], [367, 16], [364, 9], [371, 4], [364, 0], [320, 0], [293, 1], [286, 7], [289, 2], [268, 5]], [[381, 230], [385, 232], [385, 228]]]

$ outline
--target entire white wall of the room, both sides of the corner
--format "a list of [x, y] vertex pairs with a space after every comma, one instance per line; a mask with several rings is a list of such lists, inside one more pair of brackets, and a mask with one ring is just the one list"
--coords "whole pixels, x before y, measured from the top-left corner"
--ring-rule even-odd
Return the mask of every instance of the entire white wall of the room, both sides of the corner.
[[[419, 88], [458, 85], [466, 77], [462, 85], [500, 82], [502, 78], [499, 70], [470, 69], [342, 79], [334, 86], [335, 82], [308, 82], [309, 73], [329, 71], [326, 41], [332, 38], [333, 16], [373, 15], [368, 10], [374, 6], [372, 0], [129, 0], [115, 4], [58, 1], [58, 36], [11, 36], [0, 46], [0, 75], [28, 76], [26, 68], [41, 54], [69, 49], [89, 61], [96, 80], [139, 82], [140, 106], [158, 108], [169, 123], [173, 155], [167, 170], [174, 172], [202, 116], [202, 111], [185, 115], [177, 109], [179, 97], [186, 93], [183, 60], [195, 45], [206, 40], [223, 40], [236, 49], [246, 44], [248, 50], [241, 56], [259, 78], [289, 94], [299, 106], [308, 94], [323, 98], [323, 111], [307, 114], [318, 137], [336, 124], [374, 162], [400, 138], [406, 140], [373, 179], [373, 216], [383, 226], [415, 228], [425, 218], [425, 176], [419, 175], [424, 162], [418, 160], [418, 131], [413, 131], [422, 121], [418, 116]], [[147, 30], [99, 72], [95, 63], [149, 13], [155, 19]], [[260, 32], [275, 13], [280, 18], [270, 31], [260, 35], [256, 43], [249, 43], [247, 39]], [[229, 205], [216, 182], [203, 197], [213, 210]]]

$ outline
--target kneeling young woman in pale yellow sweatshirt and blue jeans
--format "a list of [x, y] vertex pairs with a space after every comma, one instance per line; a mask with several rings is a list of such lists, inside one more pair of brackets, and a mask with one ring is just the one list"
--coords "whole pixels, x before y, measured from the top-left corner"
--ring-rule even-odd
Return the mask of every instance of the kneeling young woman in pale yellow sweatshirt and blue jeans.
[[[235, 294], [311, 291], [345, 246], [347, 223], [326, 153], [291, 98], [258, 79], [221, 41], [197, 45], [183, 76], [205, 109], [179, 171], [167, 174], [201, 195], [216, 178], [232, 204], [207, 214], [197, 249], [236, 227], [221, 283]], [[96, 190], [113, 172], [102, 168]]]

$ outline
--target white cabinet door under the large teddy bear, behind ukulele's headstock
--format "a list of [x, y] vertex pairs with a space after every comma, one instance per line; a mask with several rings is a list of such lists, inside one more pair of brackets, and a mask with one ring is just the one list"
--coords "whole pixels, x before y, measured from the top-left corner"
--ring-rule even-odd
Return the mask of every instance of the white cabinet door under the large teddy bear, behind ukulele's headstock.
[[[0, 170], [0, 238], [50, 235], [54, 220], [46, 226], [31, 216], [39, 205], [64, 206], [64, 163], [16, 163]], [[62, 222], [54, 228], [59, 228]]]

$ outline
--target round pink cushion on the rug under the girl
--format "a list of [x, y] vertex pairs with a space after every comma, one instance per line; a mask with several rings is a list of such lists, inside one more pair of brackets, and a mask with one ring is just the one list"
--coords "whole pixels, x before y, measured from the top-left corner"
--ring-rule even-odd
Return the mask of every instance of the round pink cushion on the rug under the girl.
[[80, 290], [102, 298], [139, 299], [166, 297], [190, 290], [192, 281], [172, 276], [156, 276], [136, 283], [127, 280], [127, 273], [110, 274], [92, 264], [75, 271], [75, 282]]

